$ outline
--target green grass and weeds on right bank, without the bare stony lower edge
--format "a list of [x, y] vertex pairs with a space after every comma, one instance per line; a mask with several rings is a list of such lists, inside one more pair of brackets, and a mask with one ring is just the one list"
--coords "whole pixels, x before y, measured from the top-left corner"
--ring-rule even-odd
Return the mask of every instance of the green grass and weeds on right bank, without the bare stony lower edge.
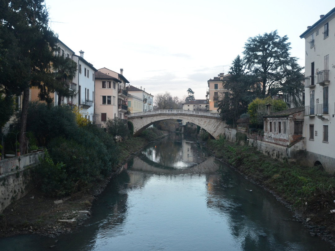
[[[273, 191], [294, 209], [305, 214], [327, 214], [335, 209], [335, 178], [319, 166], [299, 166], [280, 162], [253, 147], [225, 141], [208, 140], [215, 157], [235, 167], [246, 177]], [[332, 217], [334, 221], [334, 217]]]

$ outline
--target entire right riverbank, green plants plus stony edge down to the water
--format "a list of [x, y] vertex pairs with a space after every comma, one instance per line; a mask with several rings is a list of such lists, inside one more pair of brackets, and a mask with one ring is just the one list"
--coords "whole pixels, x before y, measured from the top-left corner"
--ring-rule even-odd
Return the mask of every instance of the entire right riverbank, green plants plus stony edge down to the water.
[[280, 162], [253, 147], [219, 140], [206, 146], [217, 159], [229, 164], [251, 182], [263, 187], [287, 206], [292, 220], [302, 222], [312, 237], [318, 236], [335, 247], [335, 179], [321, 167]]

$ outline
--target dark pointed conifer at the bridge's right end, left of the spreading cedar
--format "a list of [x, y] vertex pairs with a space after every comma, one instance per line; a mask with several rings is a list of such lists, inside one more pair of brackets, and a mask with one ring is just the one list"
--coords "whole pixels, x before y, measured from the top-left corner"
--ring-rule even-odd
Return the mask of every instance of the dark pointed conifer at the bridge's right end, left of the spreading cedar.
[[247, 112], [248, 104], [256, 96], [257, 85], [252, 76], [246, 75], [240, 55], [232, 61], [228, 73], [229, 80], [222, 84], [227, 91], [222, 93], [223, 99], [218, 101], [218, 110], [227, 124], [236, 127], [240, 115]]

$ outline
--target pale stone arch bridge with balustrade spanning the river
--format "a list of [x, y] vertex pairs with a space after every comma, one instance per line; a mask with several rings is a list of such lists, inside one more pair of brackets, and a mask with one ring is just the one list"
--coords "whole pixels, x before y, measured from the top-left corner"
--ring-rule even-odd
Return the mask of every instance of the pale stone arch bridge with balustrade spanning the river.
[[226, 124], [220, 115], [215, 112], [190, 111], [190, 110], [154, 110], [136, 112], [128, 115], [128, 121], [134, 125], [134, 136], [139, 135], [145, 128], [155, 122], [166, 119], [182, 119], [199, 125], [215, 139], [224, 133]]

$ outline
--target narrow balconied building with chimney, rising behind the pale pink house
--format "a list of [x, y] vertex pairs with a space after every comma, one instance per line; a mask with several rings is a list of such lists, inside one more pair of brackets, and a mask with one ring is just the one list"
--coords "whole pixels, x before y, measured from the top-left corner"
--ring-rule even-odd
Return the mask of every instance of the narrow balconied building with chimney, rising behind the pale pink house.
[[128, 93], [126, 91], [126, 84], [129, 81], [123, 76], [123, 69], [120, 69], [120, 73], [107, 69], [106, 67], [98, 69], [107, 75], [110, 75], [121, 82], [118, 84], [118, 118], [127, 119], [128, 116]]

